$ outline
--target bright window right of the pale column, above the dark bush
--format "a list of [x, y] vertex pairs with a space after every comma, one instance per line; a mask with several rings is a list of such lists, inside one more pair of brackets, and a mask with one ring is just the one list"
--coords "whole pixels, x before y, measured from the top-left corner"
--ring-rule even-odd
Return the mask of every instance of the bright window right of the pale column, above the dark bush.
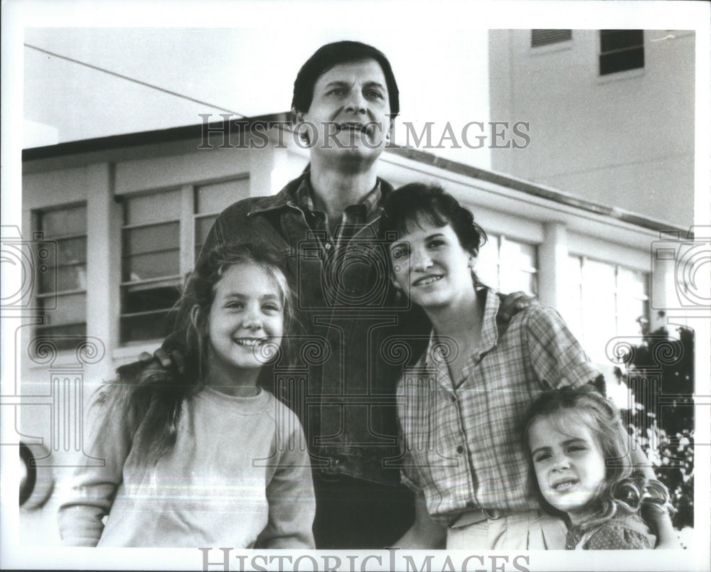
[[606, 361], [616, 335], [637, 335], [648, 319], [648, 274], [586, 257], [568, 258], [568, 300], [561, 312], [593, 359]]

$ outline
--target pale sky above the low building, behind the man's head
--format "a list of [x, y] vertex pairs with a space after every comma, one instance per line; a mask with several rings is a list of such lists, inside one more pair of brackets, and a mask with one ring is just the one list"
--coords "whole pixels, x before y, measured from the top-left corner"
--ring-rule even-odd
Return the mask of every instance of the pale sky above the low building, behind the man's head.
[[[206, 113], [219, 120], [225, 112], [287, 111], [300, 66], [320, 45], [342, 39], [375, 45], [390, 59], [401, 93], [396, 141], [406, 136], [405, 122], [418, 133], [426, 121], [485, 122], [487, 31], [410, 33], [424, 41], [358, 28], [316, 29], [296, 44], [263, 28], [27, 28], [23, 147], [198, 124]], [[488, 166], [488, 149], [444, 151]]]

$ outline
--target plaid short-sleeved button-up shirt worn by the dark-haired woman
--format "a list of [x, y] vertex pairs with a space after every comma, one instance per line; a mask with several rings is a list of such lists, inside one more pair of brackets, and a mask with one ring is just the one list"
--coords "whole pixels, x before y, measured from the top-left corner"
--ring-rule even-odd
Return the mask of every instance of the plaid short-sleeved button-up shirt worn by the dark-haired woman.
[[538, 508], [521, 438], [528, 406], [546, 389], [580, 387], [599, 375], [557, 311], [533, 304], [500, 331], [498, 296], [487, 289], [480, 295], [481, 342], [461, 379], [452, 383], [444, 359], [456, 351], [453, 340], [433, 332], [397, 387], [402, 480], [424, 494], [429, 514], [445, 525], [479, 508]]

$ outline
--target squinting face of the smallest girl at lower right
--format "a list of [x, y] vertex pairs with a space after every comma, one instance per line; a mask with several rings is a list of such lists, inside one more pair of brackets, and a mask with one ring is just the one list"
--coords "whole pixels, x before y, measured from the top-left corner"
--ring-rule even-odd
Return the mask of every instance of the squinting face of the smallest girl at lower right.
[[567, 421], [564, 433], [550, 417], [537, 417], [530, 424], [528, 444], [543, 498], [577, 524], [594, 512], [591, 503], [605, 480], [605, 458], [584, 423]]

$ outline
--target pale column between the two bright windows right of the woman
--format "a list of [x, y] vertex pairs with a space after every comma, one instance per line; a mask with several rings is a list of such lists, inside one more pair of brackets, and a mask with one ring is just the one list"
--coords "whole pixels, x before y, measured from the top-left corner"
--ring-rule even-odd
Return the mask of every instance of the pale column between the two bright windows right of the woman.
[[567, 233], [562, 222], [543, 226], [543, 242], [538, 247], [538, 298], [559, 311], [565, 306], [565, 268], [568, 258]]

